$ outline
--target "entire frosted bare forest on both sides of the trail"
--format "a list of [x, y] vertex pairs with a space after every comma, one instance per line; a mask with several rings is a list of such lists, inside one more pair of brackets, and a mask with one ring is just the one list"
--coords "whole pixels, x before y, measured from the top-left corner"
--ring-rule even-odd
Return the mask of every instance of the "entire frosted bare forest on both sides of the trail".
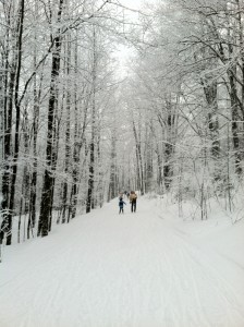
[[[126, 62], [119, 52], [126, 52]], [[0, 244], [120, 192], [243, 194], [243, 0], [0, 0]]]

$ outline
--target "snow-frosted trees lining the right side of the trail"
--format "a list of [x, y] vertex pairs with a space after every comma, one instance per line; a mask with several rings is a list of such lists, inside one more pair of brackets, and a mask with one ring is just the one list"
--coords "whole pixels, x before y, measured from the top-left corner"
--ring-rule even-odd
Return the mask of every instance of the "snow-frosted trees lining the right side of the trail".
[[[146, 5], [127, 96], [137, 187], [232, 210], [243, 192], [244, 2]], [[127, 100], [129, 99], [129, 100]]]

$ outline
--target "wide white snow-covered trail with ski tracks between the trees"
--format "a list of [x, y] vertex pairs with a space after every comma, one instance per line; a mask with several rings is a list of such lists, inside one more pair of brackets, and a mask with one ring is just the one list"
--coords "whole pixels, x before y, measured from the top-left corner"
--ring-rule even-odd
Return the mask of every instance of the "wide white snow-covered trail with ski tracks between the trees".
[[[136, 214], [117, 210], [112, 202], [49, 238], [8, 249], [0, 326], [244, 326], [244, 280], [236, 289], [213, 264], [218, 254], [208, 256], [147, 199]], [[220, 263], [227, 271], [234, 265]]]

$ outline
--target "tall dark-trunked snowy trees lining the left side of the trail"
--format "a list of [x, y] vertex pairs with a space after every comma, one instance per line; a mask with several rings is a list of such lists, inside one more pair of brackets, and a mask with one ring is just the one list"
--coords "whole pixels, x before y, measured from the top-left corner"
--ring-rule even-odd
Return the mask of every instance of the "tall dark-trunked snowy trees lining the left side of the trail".
[[0, 243], [11, 244], [13, 219], [19, 242], [23, 223], [24, 238], [45, 237], [53, 219], [114, 196], [111, 53], [123, 9], [110, 2], [0, 1]]

